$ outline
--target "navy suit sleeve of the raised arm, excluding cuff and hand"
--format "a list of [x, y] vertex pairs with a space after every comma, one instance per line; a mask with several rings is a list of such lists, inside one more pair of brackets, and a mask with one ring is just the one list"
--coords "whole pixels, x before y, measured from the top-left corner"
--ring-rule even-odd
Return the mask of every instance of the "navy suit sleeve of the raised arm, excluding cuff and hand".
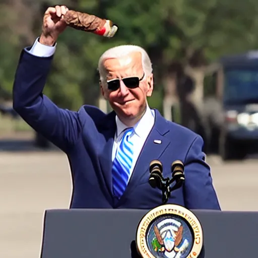
[[77, 112], [58, 108], [42, 93], [52, 58], [22, 51], [14, 80], [13, 107], [35, 131], [66, 152], [78, 139], [80, 123]]

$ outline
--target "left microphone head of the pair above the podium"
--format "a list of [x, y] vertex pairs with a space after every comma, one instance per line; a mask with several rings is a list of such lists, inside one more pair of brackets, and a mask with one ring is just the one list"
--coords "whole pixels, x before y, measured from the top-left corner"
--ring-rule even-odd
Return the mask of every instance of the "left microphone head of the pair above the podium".
[[160, 190], [162, 189], [162, 171], [163, 166], [159, 160], [153, 160], [150, 163], [150, 177], [149, 177], [149, 184], [152, 188], [158, 187]]

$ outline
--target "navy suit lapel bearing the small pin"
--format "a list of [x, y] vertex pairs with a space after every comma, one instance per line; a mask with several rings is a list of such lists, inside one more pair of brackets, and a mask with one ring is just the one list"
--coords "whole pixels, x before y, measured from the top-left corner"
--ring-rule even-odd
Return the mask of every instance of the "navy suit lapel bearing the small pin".
[[[141, 180], [141, 178], [149, 173], [150, 162], [154, 159], [159, 159], [163, 152], [170, 144], [170, 140], [165, 137], [165, 134], [169, 132], [167, 121], [160, 115], [158, 110], [155, 110], [155, 122], [154, 126], [147, 137], [142, 151], [136, 162], [133, 174], [130, 181], [121, 197], [122, 202], [128, 192], [131, 192]], [[155, 141], [158, 140], [158, 141]]]

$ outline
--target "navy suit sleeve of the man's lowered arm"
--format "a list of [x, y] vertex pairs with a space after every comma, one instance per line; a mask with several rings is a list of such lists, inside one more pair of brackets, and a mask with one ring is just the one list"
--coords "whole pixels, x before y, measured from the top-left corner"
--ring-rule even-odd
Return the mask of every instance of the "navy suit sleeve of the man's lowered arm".
[[197, 136], [185, 159], [184, 202], [187, 209], [220, 210], [213, 187], [210, 166], [202, 151], [203, 139]]

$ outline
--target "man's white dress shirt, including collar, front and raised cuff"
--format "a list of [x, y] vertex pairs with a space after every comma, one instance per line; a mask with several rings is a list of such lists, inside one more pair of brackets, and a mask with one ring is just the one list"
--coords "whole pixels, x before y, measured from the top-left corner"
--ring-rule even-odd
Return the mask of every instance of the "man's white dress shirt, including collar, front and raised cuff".
[[[29, 53], [38, 56], [38, 57], [49, 57], [54, 54], [56, 49], [56, 44], [54, 46], [46, 46], [41, 44], [38, 41], [38, 38], [35, 40], [30, 50], [27, 50]], [[150, 134], [152, 127], [155, 121], [155, 111], [150, 109], [147, 105], [147, 109], [141, 120], [134, 126], [134, 133], [131, 136], [131, 141], [133, 143], [133, 164], [130, 170], [130, 176], [135, 168], [138, 157], [143, 149], [143, 146], [146, 142], [148, 135]], [[119, 118], [115, 118], [117, 131], [115, 133], [114, 144], [112, 149], [112, 161], [115, 158], [117, 147], [121, 142], [123, 131], [128, 127], [124, 125]]]

